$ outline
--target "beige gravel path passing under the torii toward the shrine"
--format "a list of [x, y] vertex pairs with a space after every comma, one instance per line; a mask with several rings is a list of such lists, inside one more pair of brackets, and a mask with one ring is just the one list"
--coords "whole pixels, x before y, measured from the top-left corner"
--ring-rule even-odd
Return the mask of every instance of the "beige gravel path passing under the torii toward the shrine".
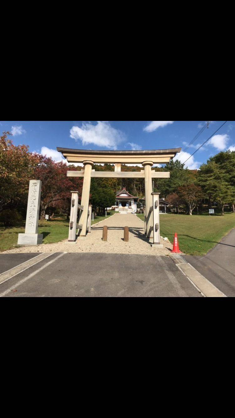
[[[102, 241], [102, 228], [108, 227], [107, 242]], [[129, 242], [124, 242], [124, 227], [129, 227]], [[161, 227], [161, 225], [160, 225]], [[169, 255], [172, 245], [161, 239], [163, 249], [152, 248], [144, 237], [144, 222], [134, 214], [114, 214], [108, 219], [95, 224], [87, 237], [78, 238], [76, 243], [67, 240], [55, 244], [42, 244], [18, 247], [3, 253], [15, 252], [107, 252], [116, 254]], [[2, 253], [2, 254], [3, 254]]]

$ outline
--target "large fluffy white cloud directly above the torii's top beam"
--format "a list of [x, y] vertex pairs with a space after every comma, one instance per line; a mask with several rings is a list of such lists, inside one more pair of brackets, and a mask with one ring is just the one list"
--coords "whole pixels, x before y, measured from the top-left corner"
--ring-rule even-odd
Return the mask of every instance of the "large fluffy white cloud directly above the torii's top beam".
[[97, 125], [92, 123], [82, 123], [82, 127], [73, 126], [70, 130], [70, 137], [82, 141], [82, 145], [94, 144], [99, 147], [106, 147], [117, 150], [117, 145], [125, 140], [125, 134], [113, 128], [107, 121], [97, 121]]

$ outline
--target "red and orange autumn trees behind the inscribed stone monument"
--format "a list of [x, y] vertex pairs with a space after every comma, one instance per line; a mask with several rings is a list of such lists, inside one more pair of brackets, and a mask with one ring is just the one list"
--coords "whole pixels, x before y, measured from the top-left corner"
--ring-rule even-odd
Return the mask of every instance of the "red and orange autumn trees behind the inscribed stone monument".
[[82, 194], [82, 178], [66, 177], [66, 171], [80, 170], [81, 167], [56, 163], [51, 158], [29, 152], [26, 145], [15, 146], [9, 138], [10, 132], [0, 137], [0, 212], [18, 210], [25, 216], [28, 200], [28, 186], [32, 179], [42, 181], [41, 219], [45, 218], [49, 206], [61, 208], [68, 213], [71, 191]]

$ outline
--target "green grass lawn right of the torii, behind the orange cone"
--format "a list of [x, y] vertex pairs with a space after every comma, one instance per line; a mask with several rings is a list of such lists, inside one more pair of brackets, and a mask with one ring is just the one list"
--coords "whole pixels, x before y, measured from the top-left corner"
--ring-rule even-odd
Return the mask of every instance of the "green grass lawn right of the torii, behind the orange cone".
[[[144, 221], [144, 215], [137, 215]], [[189, 255], [204, 255], [235, 227], [235, 214], [160, 215], [160, 234], [171, 243], [177, 232], [179, 249]]]

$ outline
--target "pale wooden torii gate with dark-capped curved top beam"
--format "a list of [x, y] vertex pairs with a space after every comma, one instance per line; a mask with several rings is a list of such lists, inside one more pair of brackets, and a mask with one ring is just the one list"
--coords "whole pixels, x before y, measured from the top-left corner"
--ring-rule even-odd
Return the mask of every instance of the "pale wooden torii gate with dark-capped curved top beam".
[[[155, 172], [151, 170], [154, 164], [169, 163], [181, 148], [169, 150], [146, 150], [146, 151], [95, 151], [95, 150], [76, 150], [69, 148], [57, 147], [57, 151], [67, 159], [68, 163], [83, 163], [84, 170], [67, 171], [68, 177], [83, 177], [82, 200], [81, 205], [78, 204], [77, 192], [72, 192], [71, 216], [69, 225], [69, 241], [76, 240], [77, 226], [77, 210], [80, 209], [79, 215], [79, 236], [85, 237], [87, 234], [87, 217], [89, 212], [89, 194], [92, 177], [108, 177], [108, 178], [144, 178], [145, 179], [145, 199], [146, 199], [146, 237], [151, 237], [153, 225], [151, 212], [153, 211], [152, 196], [152, 178], [169, 178], [170, 173]], [[95, 171], [92, 170], [93, 164], [115, 164], [115, 171]], [[140, 172], [124, 172], [121, 171], [121, 164], [142, 164], [144, 170]], [[159, 196], [158, 196], [159, 197]], [[90, 227], [89, 220], [89, 227]]]

